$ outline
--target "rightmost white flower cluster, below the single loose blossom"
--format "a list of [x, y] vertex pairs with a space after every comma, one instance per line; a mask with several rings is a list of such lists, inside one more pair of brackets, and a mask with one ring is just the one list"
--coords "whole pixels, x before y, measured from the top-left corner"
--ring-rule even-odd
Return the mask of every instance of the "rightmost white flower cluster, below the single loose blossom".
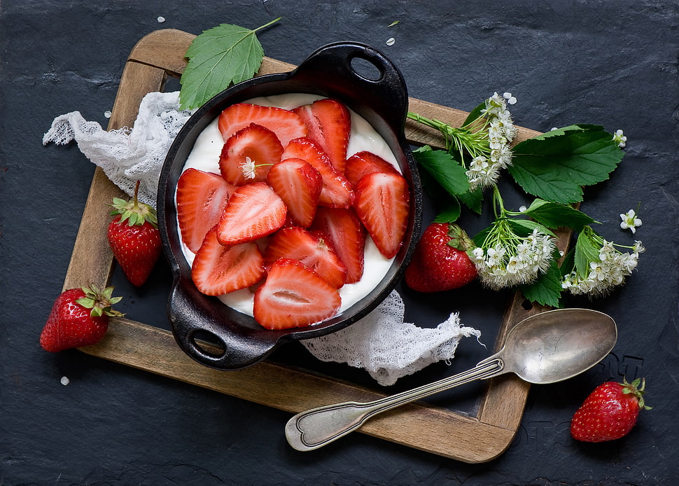
[[589, 261], [589, 273], [581, 277], [575, 270], [563, 277], [561, 287], [573, 295], [587, 294], [591, 297], [605, 296], [613, 287], [621, 285], [636, 268], [639, 254], [645, 248], [641, 242], [634, 242], [632, 253], [622, 253], [612, 242], [603, 240], [598, 260]]

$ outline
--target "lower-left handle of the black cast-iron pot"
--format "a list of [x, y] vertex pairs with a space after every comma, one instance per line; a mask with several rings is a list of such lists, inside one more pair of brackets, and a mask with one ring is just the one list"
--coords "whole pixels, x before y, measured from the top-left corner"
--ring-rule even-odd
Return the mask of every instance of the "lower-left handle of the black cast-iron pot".
[[[251, 317], [214, 300], [181, 280], [170, 294], [168, 312], [174, 338], [195, 361], [211, 368], [238, 370], [261, 361], [279, 345], [279, 336], [255, 331], [246, 322]], [[229, 326], [230, 322], [234, 325]]]

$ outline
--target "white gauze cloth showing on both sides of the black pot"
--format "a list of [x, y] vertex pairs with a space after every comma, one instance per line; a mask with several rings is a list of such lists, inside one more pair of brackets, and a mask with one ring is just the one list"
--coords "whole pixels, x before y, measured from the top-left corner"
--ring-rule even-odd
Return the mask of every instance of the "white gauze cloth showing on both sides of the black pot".
[[[73, 111], [55, 118], [43, 144], [75, 140], [80, 151], [128, 195], [140, 180], [140, 200], [155, 207], [165, 154], [190, 115], [179, 110], [179, 92], [151, 92], [142, 100], [131, 130], [123, 127], [107, 132]], [[393, 291], [355, 324], [302, 343], [317, 359], [363, 368], [386, 386], [432, 363], [452, 359], [462, 338], [474, 335], [479, 340], [481, 336], [480, 331], [462, 326], [458, 314], [451, 314], [436, 328], [406, 323], [404, 315], [403, 301]]]

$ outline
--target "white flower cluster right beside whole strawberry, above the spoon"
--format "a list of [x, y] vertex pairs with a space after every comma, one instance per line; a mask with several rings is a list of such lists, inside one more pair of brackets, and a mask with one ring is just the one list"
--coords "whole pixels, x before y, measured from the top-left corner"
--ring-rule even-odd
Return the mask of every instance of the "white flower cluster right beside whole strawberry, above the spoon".
[[499, 290], [529, 284], [552, 263], [554, 238], [535, 229], [525, 238], [502, 238], [493, 247], [475, 248], [472, 261], [481, 282]]

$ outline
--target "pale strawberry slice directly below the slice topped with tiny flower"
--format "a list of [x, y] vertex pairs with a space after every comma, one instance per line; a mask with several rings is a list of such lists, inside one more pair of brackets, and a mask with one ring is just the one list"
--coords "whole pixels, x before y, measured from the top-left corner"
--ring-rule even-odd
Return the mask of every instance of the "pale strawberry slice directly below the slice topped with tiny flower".
[[237, 188], [217, 225], [217, 238], [225, 246], [251, 242], [270, 235], [286, 222], [288, 209], [265, 182]]

